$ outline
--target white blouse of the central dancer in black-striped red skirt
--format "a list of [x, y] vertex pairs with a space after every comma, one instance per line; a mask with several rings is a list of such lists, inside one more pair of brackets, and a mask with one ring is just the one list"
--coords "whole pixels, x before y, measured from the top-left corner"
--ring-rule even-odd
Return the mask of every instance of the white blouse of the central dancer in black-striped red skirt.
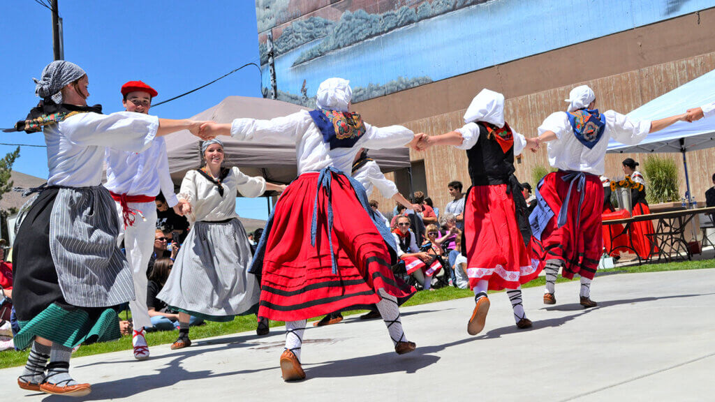
[[299, 175], [329, 166], [350, 175], [352, 161], [360, 148], [400, 148], [414, 137], [412, 130], [402, 126], [378, 128], [365, 123], [365, 128], [365, 134], [351, 148], [330, 149], [310, 113], [301, 110], [270, 120], [235, 119], [231, 136], [240, 141], [295, 144]]

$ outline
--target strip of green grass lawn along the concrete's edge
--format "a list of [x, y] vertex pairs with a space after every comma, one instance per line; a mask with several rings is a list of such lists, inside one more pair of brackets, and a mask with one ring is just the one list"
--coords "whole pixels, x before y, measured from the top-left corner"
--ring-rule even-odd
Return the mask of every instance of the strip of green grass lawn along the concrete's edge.
[[[621, 274], [621, 273], [649, 273], [658, 271], [670, 271], [670, 270], [698, 270], [704, 268], [715, 268], [715, 260], [702, 260], [702, 261], [684, 261], [680, 263], [665, 263], [665, 264], [651, 264], [651, 265], [641, 265], [635, 267], [626, 268], [614, 268], [608, 271], [603, 271], [602, 274]], [[564, 278], [558, 278], [557, 282], [567, 282], [568, 280]], [[543, 286], [544, 278], [539, 277], [532, 280], [530, 283], [523, 285], [523, 288], [533, 288], [535, 286]], [[457, 289], [457, 288], [440, 288], [435, 291], [425, 292], [420, 291], [413, 296], [405, 306], [409, 305], [420, 305], [425, 303], [435, 303], [444, 300], [453, 300], [458, 298], [469, 298], [473, 297], [473, 293], [469, 289]], [[350, 311], [343, 313], [343, 315], [353, 315], [365, 313], [364, 311]], [[124, 314], [122, 314], [124, 318]], [[317, 318], [316, 318], [317, 319]], [[271, 326], [280, 326], [283, 323], [272, 322]], [[218, 335], [228, 335], [231, 333], [240, 333], [245, 331], [251, 331], [256, 329], [256, 316], [255, 315], [244, 315], [237, 317], [230, 323], [207, 323], [206, 325], [200, 325], [191, 328], [191, 338], [209, 338]], [[177, 338], [177, 331], [162, 331], [147, 334], [147, 342], [149, 347], [152, 345], [161, 345], [164, 343], [173, 343]], [[95, 355], [97, 353], [107, 353], [116, 352], [117, 350], [127, 350], [127, 356], [131, 354], [129, 350], [132, 349], [132, 338], [129, 336], [123, 336], [119, 340], [114, 342], [104, 342], [104, 343], [94, 343], [92, 345], [82, 345], [82, 348], [74, 353], [74, 357], [78, 356], [89, 356]], [[28, 351], [16, 351], [16, 350], [5, 350], [0, 352], [0, 368], [8, 368], [14, 366], [24, 365]]]

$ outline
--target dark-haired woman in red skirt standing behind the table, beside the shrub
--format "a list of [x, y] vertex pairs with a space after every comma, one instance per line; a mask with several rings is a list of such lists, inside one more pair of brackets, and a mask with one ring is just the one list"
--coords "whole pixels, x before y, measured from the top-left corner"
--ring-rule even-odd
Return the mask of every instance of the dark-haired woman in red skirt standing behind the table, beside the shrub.
[[[631, 177], [631, 180], [643, 185], [641, 189], [631, 189], [631, 205], [633, 205], [631, 215], [633, 216], [651, 213], [651, 209], [648, 207], [648, 201], [646, 201], [646, 180], [643, 175], [641, 175], [641, 172], [636, 170], [636, 166], [638, 166], [638, 162], [631, 158], [623, 160], [623, 173], [626, 174], [626, 177]], [[633, 249], [636, 250], [638, 257], [646, 259], [649, 258], [651, 254], [658, 253], [658, 246], [655, 245], [652, 240], [652, 235], [655, 232], [652, 220], [633, 222], [629, 232], [631, 242], [633, 242]], [[651, 235], [651, 237], [649, 237], [649, 235]]]

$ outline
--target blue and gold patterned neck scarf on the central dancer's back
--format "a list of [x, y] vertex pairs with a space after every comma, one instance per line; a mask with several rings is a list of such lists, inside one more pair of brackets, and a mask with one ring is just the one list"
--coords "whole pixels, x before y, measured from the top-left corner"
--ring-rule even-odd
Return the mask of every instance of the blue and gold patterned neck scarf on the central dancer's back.
[[352, 148], [365, 134], [365, 123], [360, 114], [337, 110], [315, 109], [310, 112], [313, 122], [330, 149]]

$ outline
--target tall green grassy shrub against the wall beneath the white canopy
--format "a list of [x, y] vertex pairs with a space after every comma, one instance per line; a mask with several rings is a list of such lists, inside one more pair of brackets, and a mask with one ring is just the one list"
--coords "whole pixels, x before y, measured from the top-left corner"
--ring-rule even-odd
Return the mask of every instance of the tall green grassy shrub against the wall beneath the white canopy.
[[649, 156], [643, 162], [643, 174], [646, 177], [646, 200], [659, 202], [678, 201], [678, 167], [674, 160], [667, 157]]

